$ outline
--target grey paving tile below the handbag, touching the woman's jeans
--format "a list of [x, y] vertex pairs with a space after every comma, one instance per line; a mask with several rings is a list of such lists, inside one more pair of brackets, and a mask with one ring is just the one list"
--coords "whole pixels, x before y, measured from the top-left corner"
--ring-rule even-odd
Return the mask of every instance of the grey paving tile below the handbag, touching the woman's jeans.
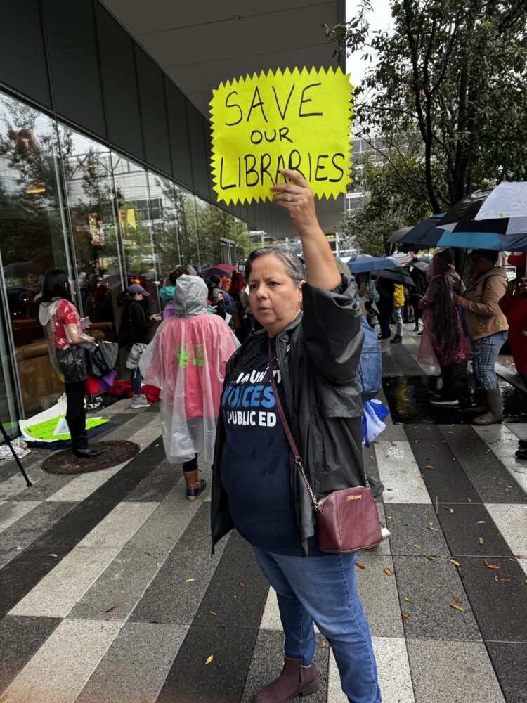
[[393, 573], [391, 557], [360, 555], [365, 568], [356, 567], [358, 595], [374, 637], [404, 637], [399, 607], [397, 582], [384, 569]]

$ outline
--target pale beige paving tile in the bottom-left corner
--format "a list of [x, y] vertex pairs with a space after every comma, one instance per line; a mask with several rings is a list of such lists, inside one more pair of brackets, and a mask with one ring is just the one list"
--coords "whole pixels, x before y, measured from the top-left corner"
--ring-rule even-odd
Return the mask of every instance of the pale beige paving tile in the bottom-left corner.
[[6, 691], [9, 703], [73, 703], [120, 624], [65, 620]]

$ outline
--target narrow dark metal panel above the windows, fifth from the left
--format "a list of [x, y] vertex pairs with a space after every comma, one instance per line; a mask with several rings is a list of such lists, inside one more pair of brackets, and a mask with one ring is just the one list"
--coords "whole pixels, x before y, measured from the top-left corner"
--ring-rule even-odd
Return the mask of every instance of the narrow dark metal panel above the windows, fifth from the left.
[[164, 89], [167, 95], [172, 175], [176, 181], [183, 183], [188, 188], [193, 188], [186, 98], [167, 77], [164, 79]]

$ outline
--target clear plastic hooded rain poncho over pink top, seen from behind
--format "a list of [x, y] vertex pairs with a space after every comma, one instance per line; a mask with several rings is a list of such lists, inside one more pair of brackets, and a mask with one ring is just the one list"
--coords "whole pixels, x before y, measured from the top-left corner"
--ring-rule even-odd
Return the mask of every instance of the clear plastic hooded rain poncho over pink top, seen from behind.
[[169, 463], [204, 452], [205, 462], [212, 464], [226, 363], [240, 346], [225, 321], [207, 312], [207, 293], [202, 278], [178, 278], [175, 316], [161, 323], [139, 365], [146, 382], [161, 391]]

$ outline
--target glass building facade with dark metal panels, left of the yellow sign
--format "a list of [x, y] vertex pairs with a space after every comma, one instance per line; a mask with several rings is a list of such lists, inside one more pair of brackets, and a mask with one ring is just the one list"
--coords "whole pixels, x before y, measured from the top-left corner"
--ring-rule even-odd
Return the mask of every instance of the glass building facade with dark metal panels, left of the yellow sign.
[[219, 207], [207, 120], [98, 0], [3, 9], [0, 44], [0, 420], [51, 406], [63, 385], [38, 321], [51, 269], [99, 337], [116, 298], [158, 290], [178, 264], [233, 263], [277, 208]]

